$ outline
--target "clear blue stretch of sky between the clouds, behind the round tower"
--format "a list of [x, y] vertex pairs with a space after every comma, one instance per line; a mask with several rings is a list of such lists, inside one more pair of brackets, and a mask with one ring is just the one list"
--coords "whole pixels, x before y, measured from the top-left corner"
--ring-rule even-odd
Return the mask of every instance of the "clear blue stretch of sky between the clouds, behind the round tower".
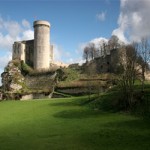
[[[111, 36], [117, 27], [119, 3], [118, 0], [0, 1], [0, 15], [19, 24], [25, 19], [31, 27], [34, 20], [50, 21], [51, 43], [75, 59], [79, 57], [75, 53], [80, 44]], [[105, 16], [101, 20], [98, 15], [102, 13]], [[65, 56], [61, 59], [69, 62]]]

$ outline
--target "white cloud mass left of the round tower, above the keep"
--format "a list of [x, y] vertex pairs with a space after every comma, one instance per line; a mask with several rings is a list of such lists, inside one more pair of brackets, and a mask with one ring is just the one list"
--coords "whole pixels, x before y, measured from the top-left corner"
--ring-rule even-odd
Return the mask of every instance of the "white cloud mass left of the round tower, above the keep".
[[14, 41], [33, 39], [33, 31], [27, 20], [18, 23], [0, 17], [0, 51], [10, 51]]

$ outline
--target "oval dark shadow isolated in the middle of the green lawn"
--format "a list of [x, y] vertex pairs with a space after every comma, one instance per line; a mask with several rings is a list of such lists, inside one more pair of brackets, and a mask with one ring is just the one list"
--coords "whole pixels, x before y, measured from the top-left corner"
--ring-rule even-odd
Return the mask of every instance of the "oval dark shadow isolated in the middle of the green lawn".
[[90, 109], [77, 109], [77, 110], [64, 110], [54, 114], [54, 117], [57, 118], [67, 118], [67, 119], [82, 119], [82, 118], [91, 118], [97, 117], [101, 115], [106, 115], [106, 113], [98, 111], [98, 110], [90, 110]]

